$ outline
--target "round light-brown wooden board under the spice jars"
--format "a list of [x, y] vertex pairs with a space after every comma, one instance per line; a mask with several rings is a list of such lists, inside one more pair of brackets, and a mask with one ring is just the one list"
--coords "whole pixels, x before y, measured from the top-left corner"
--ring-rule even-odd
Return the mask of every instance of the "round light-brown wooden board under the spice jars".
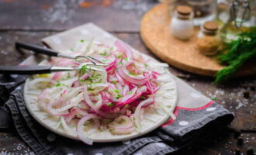
[[[182, 70], [206, 76], [214, 76], [224, 67], [215, 58], [199, 53], [196, 47], [198, 27], [190, 40], [177, 40], [171, 35], [170, 19], [168, 5], [161, 3], [150, 9], [141, 21], [140, 36], [157, 57]], [[255, 74], [255, 66], [256, 62], [245, 64], [236, 76]]]

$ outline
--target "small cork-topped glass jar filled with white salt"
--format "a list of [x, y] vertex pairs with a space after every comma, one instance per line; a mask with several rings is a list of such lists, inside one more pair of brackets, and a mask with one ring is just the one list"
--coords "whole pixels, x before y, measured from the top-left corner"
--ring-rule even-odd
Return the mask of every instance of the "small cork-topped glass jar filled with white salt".
[[177, 6], [171, 19], [171, 34], [179, 40], [189, 40], [194, 33], [192, 8], [185, 5]]

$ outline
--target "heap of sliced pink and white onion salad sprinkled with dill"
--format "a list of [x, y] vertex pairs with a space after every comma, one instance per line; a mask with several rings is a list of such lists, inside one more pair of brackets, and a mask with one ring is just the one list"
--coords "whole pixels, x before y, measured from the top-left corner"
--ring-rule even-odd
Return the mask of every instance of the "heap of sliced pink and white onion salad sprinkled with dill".
[[[157, 78], [161, 74], [152, 68], [168, 65], [147, 63], [147, 58], [119, 40], [112, 47], [80, 42], [65, 52], [90, 55], [109, 65], [94, 66], [103, 72], [84, 65], [79, 71], [34, 75], [29, 87], [39, 90], [38, 105], [49, 115], [59, 117], [64, 131], [90, 145], [93, 142], [87, 135], [95, 130], [107, 129], [117, 135], [140, 132], [144, 109], [156, 108], [155, 95], [164, 84]], [[85, 62], [88, 60], [51, 58], [47, 64], [78, 67]]]

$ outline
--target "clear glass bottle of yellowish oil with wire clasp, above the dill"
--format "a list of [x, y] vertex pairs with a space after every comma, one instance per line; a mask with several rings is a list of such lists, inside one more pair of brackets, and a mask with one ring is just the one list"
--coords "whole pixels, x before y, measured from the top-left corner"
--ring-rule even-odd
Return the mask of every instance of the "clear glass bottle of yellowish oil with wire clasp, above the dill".
[[219, 9], [217, 21], [224, 42], [235, 40], [238, 33], [256, 26], [256, 1], [232, 0], [225, 2], [226, 10]]

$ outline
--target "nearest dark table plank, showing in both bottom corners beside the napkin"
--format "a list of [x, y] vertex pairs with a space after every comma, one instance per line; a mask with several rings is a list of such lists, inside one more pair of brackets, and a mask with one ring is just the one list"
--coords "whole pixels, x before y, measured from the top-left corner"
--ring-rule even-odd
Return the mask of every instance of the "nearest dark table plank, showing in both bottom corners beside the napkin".
[[[224, 135], [225, 134], [225, 135]], [[230, 133], [224, 133], [223, 136], [218, 136], [205, 143], [196, 143], [183, 150], [178, 151], [178, 155], [219, 155], [219, 154], [234, 154], [236, 150], [247, 154], [247, 148], [252, 147], [256, 150], [256, 133], [242, 133], [241, 137], [244, 140], [243, 145], [237, 145], [237, 140]], [[0, 154], [31, 154], [32, 150], [13, 133], [0, 133]]]

